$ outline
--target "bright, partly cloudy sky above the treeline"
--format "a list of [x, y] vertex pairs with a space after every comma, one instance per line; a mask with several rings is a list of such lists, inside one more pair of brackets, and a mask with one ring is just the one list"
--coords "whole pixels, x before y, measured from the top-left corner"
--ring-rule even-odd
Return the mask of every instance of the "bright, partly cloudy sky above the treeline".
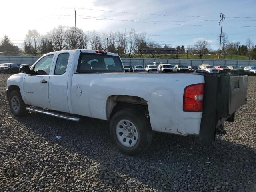
[[[84, 31], [146, 32], [150, 40], [164, 44], [193, 46], [199, 39], [218, 49], [222, 32], [230, 42], [256, 44], [256, 0], [1, 0], [0, 39], [6, 34], [19, 47], [29, 29], [46, 34], [58, 25], [76, 25]], [[111, 20], [102, 20], [108, 18]]]

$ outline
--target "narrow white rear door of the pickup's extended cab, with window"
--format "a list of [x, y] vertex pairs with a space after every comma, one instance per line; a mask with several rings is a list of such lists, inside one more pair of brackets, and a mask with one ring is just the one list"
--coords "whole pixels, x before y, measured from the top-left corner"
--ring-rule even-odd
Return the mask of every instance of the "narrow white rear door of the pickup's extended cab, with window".
[[49, 80], [49, 100], [52, 110], [70, 113], [68, 109], [68, 75], [72, 63], [70, 52], [61, 52], [54, 59]]

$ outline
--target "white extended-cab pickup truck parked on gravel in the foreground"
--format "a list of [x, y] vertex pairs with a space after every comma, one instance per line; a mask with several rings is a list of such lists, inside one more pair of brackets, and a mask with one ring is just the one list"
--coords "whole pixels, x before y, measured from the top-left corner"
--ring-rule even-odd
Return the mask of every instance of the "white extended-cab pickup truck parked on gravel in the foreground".
[[118, 149], [134, 155], [148, 148], [152, 131], [207, 141], [223, 134], [224, 122], [246, 103], [247, 76], [124, 73], [117, 54], [64, 50], [21, 67], [8, 78], [6, 96], [14, 116], [30, 110], [109, 120]]

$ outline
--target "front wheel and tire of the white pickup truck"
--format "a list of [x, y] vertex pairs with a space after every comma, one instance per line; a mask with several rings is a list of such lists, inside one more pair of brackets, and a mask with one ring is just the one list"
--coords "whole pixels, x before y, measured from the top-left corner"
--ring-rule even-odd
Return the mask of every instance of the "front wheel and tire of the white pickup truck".
[[9, 107], [12, 114], [16, 117], [21, 117], [28, 114], [26, 104], [22, 100], [19, 90], [13, 90], [9, 95]]

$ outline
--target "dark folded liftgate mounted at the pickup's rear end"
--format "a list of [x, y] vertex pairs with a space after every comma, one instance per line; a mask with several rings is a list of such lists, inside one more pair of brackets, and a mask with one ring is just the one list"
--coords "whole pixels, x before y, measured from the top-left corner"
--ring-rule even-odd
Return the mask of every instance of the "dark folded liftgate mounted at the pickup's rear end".
[[204, 75], [203, 115], [200, 139], [215, 140], [217, 128], [234, 121], [235, 111], [247, 101], [248, 76], [230, 74]]

